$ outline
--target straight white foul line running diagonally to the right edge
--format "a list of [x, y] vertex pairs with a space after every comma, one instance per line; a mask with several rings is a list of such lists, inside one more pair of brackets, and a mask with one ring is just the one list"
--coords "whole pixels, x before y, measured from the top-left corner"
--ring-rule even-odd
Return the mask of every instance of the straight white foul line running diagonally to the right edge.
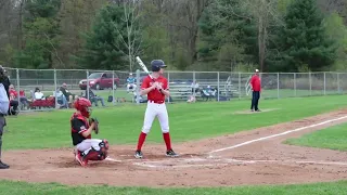
[[347, 118], [347, 116], [339, 117], [339, 118], [335, 118], [335, 119], [331, 119], [331, 120], [325, 120], [325, 121], [323, 121], [323, 122], [313, 123], [313, 125], [311, 125], [311, 126], [306, 126], [306, 127], [297, 128], [297, 129], [290, 130], [290, 131], [285, 131], [285, 132], [282, 132], [282, 133], [279, 133], [279, 134], [272, 134], [272, 135], [269, 135], [269, 136], [262, 136], [262, 138], [255, 139], [255, 140], [250, 140], [250, 141], [247, 141], [247, 142], [243, 142], [243, 143], [241, 143], [241, 144], [236, 144], [236, 145], [233, 145], [233, 146], [215, 150], [215, 151], [211, 151], [211, 152], [209, 152], [209, 153], [207, 153], [207, 154], [214, 154], [214, 153], [218, 153], [218, 152], [222, 152], [222, 151], [233, 150], [233, 148], [236, 148], [236, 147], [241, 147], [241, 146], [244, 146], [244, 145], [252, 144], [252, 143], [254, 143], [254, 142], [259, 142], [259, 141], [262, 141], [262, 140], [268, 140], [268, 139], [271, 139], [271, 138], [285, 135], [285, 134], [288, 134], [288, 133], [292, 133], [292, 132], [297, 132], [297, 131], [301, 131], [301, 130], [305, 130], [305, 129], [314, 128], [314, 127], [318, 127], [318, 126], [322, 126], [322, 125], [325, 125], [325, 123], [329, 123], [329, 122], [342, 120], [342, 119], [345, 119], [345, 118]]

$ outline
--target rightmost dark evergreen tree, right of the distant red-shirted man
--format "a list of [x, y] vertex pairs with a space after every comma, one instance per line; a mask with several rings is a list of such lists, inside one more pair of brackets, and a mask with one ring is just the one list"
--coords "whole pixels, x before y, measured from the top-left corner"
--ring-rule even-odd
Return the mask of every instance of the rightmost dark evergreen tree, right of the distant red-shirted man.
[[334, 63], [335, 47], [326, 38], [322, 21], [314, 0], [293, 1], [284, 17], [285, 28], [277, 36], [278, 70], [322, 70]]

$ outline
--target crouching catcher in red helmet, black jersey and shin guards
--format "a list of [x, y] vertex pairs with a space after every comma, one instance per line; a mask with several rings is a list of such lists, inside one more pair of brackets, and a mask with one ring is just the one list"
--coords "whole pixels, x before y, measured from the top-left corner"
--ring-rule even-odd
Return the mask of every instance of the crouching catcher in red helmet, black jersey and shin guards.
[[72, 116], [72, 138], [76, 146], [75, 158], [81, 166], [87, 166], [88, 160], [103, 160], [107, 157], [108, 142], [106, 140], [91, 139], [92, 131], [99, 133], [99, 121], [90, 118], [91, 102], [78, 98], [75, 103], [76, 112]]

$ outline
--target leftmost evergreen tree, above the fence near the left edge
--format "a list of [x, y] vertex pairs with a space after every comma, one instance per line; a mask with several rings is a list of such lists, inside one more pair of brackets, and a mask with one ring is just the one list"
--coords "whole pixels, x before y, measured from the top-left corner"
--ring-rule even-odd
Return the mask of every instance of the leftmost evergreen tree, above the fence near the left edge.
[[24, 47], [15, 54], [17, 67], [52, 68], [57, 55], [60, 0], [27, 0], [24, 15]]

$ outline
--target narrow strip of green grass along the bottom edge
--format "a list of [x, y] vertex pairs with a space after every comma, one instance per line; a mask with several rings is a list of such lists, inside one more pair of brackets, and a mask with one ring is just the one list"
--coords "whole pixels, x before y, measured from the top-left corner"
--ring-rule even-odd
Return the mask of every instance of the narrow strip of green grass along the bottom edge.
[[300, 184], [300, 185], [262, 185], [236, 187], [191, 187], [191, 188], [147, 188], [112, 186], [66, 186], [55, 183], [28, 184], [24, 182], [0, 182], [1, 195], [343, 195], [347, 192], [347, 181]]

